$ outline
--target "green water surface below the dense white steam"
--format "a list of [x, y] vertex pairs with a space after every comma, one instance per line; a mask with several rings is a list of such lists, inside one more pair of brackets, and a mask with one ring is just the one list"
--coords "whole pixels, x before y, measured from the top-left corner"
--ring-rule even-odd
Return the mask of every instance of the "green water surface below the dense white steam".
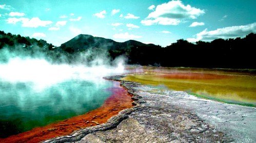
[[112, 82], [70, 80], [42, 90], [32, 83], [0, 80], [0, 137], [65, 120], [99, 108]]

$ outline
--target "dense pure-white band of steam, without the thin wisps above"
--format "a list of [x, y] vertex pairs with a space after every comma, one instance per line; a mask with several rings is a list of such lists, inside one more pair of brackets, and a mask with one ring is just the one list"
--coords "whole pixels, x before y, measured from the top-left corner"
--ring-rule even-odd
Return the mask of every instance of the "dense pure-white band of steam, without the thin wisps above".
[[113, 74], [122, 74], [122, 62], [117, 66], [51, 64], [45, 59], [12, 58], [7, 63], [0, 65], [0, 79], [3, 81], [30, 82], [36, 90], [65, 82], [70, 79], [94, 81]]

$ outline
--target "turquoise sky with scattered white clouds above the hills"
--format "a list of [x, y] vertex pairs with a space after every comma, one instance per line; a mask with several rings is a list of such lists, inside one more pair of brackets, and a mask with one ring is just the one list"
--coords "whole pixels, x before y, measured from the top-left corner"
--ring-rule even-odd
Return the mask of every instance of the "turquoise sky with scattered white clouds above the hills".
[[78, 34], [162, 46], [256, 33], [255, 0], [0, 1], [0, 30], [60, 46]]

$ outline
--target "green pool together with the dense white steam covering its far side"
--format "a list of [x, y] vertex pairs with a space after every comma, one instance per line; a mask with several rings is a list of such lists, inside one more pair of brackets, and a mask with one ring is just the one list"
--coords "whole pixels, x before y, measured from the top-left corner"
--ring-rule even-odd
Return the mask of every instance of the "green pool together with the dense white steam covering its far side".
[[10, 59], [0, 64], [0, 139], [101, 107], [113, 93], [103, 77], [122, 65], [51, 64]]

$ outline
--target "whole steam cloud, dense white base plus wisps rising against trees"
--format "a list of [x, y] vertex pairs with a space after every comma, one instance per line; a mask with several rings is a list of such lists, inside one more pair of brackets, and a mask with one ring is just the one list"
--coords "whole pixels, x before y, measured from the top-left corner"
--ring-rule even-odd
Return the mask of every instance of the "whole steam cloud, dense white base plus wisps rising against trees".
[[62, 53], [50, 54], [36, 48], [34, 51], [20, 48], [11, 51], [8, 47], [2, 49], [0, 82], [29, 83], [35, 90], [41, 91], [68, 80], [100, 84], [103, 77], [124, 73], [125, 58], [118, 57], [111, 62], [106, 51], [88, 50], [71, 55], [71, 58]]

